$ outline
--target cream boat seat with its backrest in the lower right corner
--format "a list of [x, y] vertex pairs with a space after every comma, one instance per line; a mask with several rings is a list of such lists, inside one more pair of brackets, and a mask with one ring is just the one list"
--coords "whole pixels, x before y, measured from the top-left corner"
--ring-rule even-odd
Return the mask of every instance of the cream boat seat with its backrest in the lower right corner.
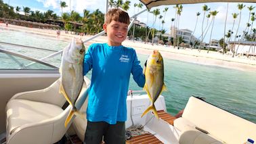
[[[256, 139], [256, 124], [196, 97], [190, 97], [182, 117], [174, 120], [173, 125], [181, 132], [179, 141], [208, 141], [213, 138], [217, 141], [215, 143], [240, 144], [248, 138]], [[192, 138], [192, 135], [188, 135], [197, 135], [198, 130], [200, 137]]]

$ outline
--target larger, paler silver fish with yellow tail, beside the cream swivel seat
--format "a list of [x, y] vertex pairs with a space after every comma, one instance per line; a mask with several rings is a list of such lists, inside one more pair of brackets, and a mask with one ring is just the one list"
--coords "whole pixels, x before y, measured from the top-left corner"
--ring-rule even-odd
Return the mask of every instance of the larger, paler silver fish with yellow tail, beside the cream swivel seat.
[[74, 113], [77, 113], [74, 103], [83, 87], [83, 57], [85, 46], [81, 39], [72, 38], [71, 43], [64, 48], [60, 65], [61, 85], [60, 93], [64, 95], [68, 103], [72, 105], [65, 126], [68, 125]]

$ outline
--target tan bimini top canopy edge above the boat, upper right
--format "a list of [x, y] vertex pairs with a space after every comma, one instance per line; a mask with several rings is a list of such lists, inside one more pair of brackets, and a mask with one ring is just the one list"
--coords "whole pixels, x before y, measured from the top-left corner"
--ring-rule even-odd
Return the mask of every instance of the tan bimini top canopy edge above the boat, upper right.
[[140, 0], [148, 9], [159, 5], [176, 5], [191, 3], [213, 3], [213, 2], [236, 2], [236, 3], [256, 3], [256, 0]]

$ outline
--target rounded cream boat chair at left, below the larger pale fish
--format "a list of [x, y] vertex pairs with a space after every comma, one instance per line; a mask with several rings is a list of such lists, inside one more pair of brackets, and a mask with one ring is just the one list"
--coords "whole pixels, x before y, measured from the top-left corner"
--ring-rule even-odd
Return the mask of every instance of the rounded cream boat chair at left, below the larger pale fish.
[[[7, 144], [52, 144], [62, 139], [72, 121], [64, 126], [71, 106], [62, 110], [66, 99], [59, 88], [60, 79], [46, 89], [17, 93], [8, 101], [5, 109]], [[86, 89], [84, 83], [82, 92]]]

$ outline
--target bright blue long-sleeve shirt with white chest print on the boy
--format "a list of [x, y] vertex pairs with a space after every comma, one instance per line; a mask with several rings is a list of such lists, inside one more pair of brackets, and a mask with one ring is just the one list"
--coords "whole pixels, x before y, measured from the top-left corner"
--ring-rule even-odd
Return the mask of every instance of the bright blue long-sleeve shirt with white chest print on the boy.
[[144, 87], [145, 84], [145, 76], [135, 50], [123, 45], [92, 44], [85, 53], [83, 74], [91, 69], [87, 120], [109, 124], [125, 122], [130, 74], [133, 74], [137, 85]]

